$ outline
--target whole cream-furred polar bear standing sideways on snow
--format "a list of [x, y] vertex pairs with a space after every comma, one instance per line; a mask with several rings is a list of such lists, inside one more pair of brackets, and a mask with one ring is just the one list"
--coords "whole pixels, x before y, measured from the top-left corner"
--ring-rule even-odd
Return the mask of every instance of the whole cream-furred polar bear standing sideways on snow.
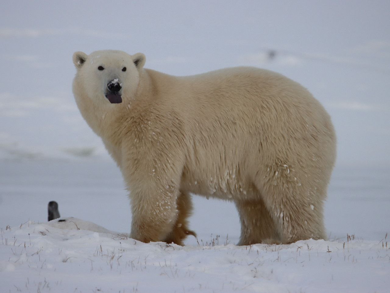
[[76, 103], [129, 189], [131, 238], [183, 245], [190, 193], [234, 202], [238, 245], [326, 237], [335, 132], [300, 84], [254, 67], [177, 77], [113, 50], [73, 63]]

